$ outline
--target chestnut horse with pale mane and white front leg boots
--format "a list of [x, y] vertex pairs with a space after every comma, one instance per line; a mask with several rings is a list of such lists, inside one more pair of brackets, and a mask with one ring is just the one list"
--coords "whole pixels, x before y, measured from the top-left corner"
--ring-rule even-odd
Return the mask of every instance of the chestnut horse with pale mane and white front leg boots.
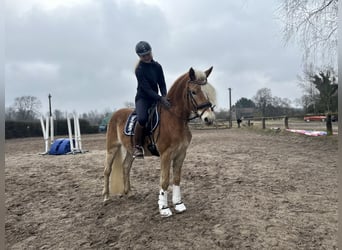
[[[181, 168], [191, 142], [192, 134], [189, 121], [200, 118], [206, 125], [215, 121], [214, 106], [216, 92], [208, 82], [213, 67], [203, 71], [192, 67], [173, 83], [167, 98], [170, 108], [157, 104], [160, 121], [152, 132], [160, 155], [160, 190], [158, 197], [159, 213], [169, 217], [172, 211], [168, 205], [170, 169], [173, 169], [172, 203], [176, 213], [186, 211], [181, 198]], [[110, 195], [127, 195], [130, 188], [130, 170], [133, 158], [132, 136], [124, 134], [124, 127], [132, 109], [122, 108], [113, 113], [106, 134], [106, 158], [104, 169], [104, 202]], [[148, 138], [146, 138], [148, 139]], [[146, 140], [145, 140], [146, 141]], [[151, 156], [144, 146], [145, 156]]]

